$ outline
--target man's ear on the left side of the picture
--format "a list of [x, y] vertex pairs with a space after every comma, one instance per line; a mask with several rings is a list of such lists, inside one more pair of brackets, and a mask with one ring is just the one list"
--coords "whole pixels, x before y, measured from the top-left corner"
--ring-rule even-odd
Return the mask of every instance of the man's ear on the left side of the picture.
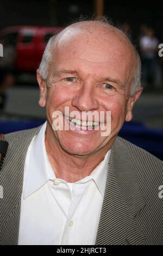
[[40, 99], [39, 99], [39, 105], [40, 107], [46, 106], [46, 96], [47, 96], [47, 88], [46, 83], [40, 76], [39, 72], [37, 71], [37, 82], [39, 83], [40, 88]]

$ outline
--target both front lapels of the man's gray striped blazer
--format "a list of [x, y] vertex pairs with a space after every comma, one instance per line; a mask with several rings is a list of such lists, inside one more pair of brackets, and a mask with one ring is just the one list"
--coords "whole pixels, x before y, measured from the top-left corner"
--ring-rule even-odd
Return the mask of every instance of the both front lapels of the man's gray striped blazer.
[[[0, 199], [1, 245], [18, 243], [24, 162], [29, 144], [41, 127], [20, 132], [20, 136], [10, 143], [5, 157], [0, 173], [0, 184], [4, 190], [4, 198]], [[7, 139], [10, 138], [8, 135]], [[22, 143], [23, 147], [20, 149]], [[145, 244], [146, 237], [135, 222], [135, 216], [144, 206], [145, 200], [135, 176], [133, 163], [121, 139], [117, 138], [111, 148], [96, 245]]]

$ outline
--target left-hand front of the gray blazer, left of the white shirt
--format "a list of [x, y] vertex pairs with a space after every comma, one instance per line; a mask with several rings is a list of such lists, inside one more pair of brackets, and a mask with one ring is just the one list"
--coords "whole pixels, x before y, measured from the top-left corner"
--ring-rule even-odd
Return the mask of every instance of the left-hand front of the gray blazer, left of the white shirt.
[[[0, 185], [3, 187], [3, 199], [0, 199], [0, 244], [17, 245], [20, 223], [21, 195], [26, 154], [32, 138], [41, 129], [20, 132], [10, 142], [9, 149], [0, 173]], [[17, 136], [17, 138], [16, 138]]]

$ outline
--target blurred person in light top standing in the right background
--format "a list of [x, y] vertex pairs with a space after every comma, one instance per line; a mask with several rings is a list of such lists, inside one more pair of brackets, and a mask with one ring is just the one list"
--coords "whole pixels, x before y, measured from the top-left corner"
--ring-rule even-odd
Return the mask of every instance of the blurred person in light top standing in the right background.
[[147, 89], [154, 88], [158, 75], [158, 45], [159, 41], [154, 36], [152, 28], [143, 27], [140, 38], [140, 53], [142, 60], [142, 83]]

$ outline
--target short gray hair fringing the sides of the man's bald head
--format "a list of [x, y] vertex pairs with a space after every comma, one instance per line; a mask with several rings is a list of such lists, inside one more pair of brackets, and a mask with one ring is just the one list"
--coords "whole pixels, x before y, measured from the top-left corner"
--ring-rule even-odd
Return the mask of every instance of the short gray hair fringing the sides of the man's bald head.
[[[106, 20], [105, 17], [103, 17], [101, 19], [94, 19], [94, 21], [102, 22], [107, 25], [113, 26], [111, 24], [112, 22], [109, 22], [108, 20]], [[81, 22], [81, 21], [78, 21], [78, 22]], [[77, 22], [75, 22], [75, 23], [77, 23]], [[123, 32], [123, 34], [125, 34], [131, 42], [130, 34], [124, 33], [123, 29], [120, 27], [116, 27], [116, 26], [114, 26], [114, 27], [118, 28], [121, 32]], [[53, 58], [52, 46], [53, 46], [55, 38], [57, 37], [58, 34], [53, 35], [49, 39], [48, 44], [47, 44], [45, 51], [43, 53], [43, 56], [42, 56], [40, 66], [37, 69], [37, 71], [39, 72], [39, 74], [43, 80], [47, 80], [47, 78], [48, 78], [49, 66], [50, 66], [50, 64], [52, 62], [52, 58]], [[131, 42], [131, 44], [134, 47], [135, 54], [136, 54], [136, 61], [137, 61], [136, 67], [133, 70], [133, 81], [132, 81], [131, 87], [130, 87], [130, 96], [134, 96], [134, 94], [137, 92], [137, 90], [139, 90], [139, 88], [141, 88], [141, 60], [140, 60], [139, 53], [136, 50], [136, 47], [134, 46], [134, 44], [132, 42]]]

